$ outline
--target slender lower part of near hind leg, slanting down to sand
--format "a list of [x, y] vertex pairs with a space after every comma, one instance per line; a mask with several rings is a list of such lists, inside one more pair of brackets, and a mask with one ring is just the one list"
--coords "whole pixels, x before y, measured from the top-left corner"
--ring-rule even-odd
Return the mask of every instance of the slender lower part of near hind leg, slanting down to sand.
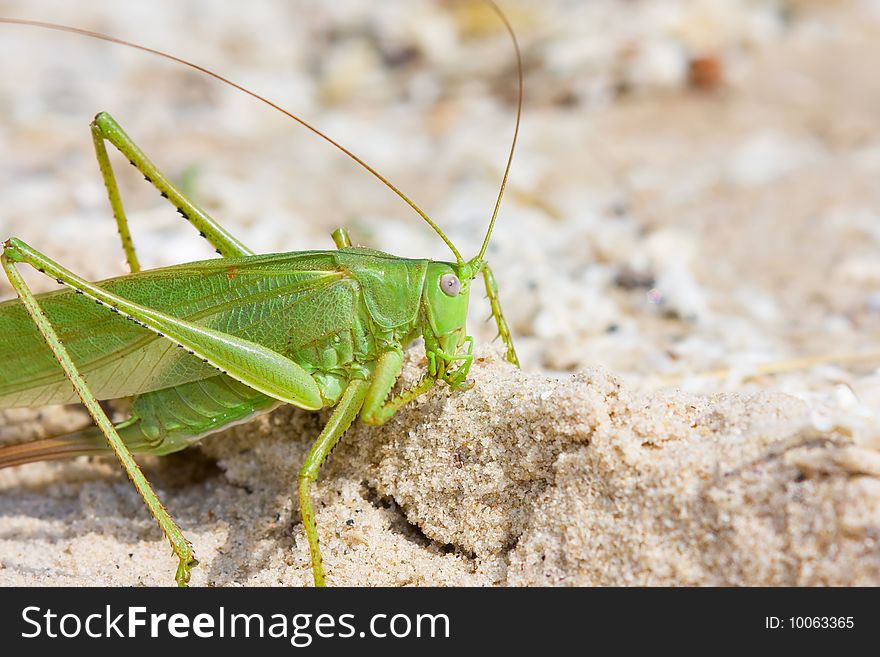
[[58, 363], [64, 369], [64, 373], [67, 375], [68, 380], [76, 390], [77, 395], [79, 395], [79, 398], [89, 411], [89, 414], [107, 438], [110, 448], [116, 454], [120, 463], [122, 463], [122, 467], [125, 468], [129, 479], [131, 479], [135, 488], [137, 488], [138, 492], [141, 494], [150, 513], [153, 514], [153, 517], [159, 523], [159, 527], [162, 529], [165, 537], [171, 542], [171, 548], [174, 550], [174, 554], [179, 560], [177, 572], [175, 574], [177, 585], [186, 586], [187, 582], [189, 582], [190, 571], [199, 563], [193, 552], [192, 544], [186, 539], [186, 537], [184, 537], [180, 528], [177, 526], [177, 523], [174, 522], [171, 515], [165, 510], [165, 507], [153, 491], [152, 486], [150, 486], [150, 482], [147, 481], [147, 478], [141, 472], [141, 469], [138, 467], [131, 452], [116, 432], [113, 423], [107, 417], [106, 413], [104, 413], [98, 400], [89, 390], [88, 384], [77, 370], [76, 365], [68, 354], [64, 344], [58, 338], [58, 334], [49, 322], [48, 317], [40, 309], [36, 298], [16, 268], [16, 260], [14, 257], [10, 257], [10, 255], [14, 256], [14, 253], [10, 252], [9, 242], [6, 242], [3, 245], [3, 254], [0, 255], [0, 264], [2, 264], [3, 269], [6, 272], [9, 282], [12, 284], [12, 287], [21, 299], [28, 314], [33, 319], [34, 324], [36, 324], [37, 329], [42, 334], [49, 349], [52, 350]]

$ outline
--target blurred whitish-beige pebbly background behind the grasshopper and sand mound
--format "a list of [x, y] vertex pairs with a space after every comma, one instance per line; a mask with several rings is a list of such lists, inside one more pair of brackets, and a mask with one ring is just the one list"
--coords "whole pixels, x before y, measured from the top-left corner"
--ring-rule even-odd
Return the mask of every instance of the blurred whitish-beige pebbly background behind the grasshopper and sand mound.
[[[880, 2], [500, 4], [521, 41], [526, 96], [488, 260], [524, 367], [776, 388], [874, 421]], [[0, 0], [0, 14], [210, 67], [358, 153], [465, 256], [479, 248], [516, 106], [511, 44], [480, 2]], [[360, 244], [450, 257], [342, 154], [205, 76], [6, 25], [0, 62], [0, 237], [82, 275], [125, 271], [88, 130], [99, 110], [256, 251], [330, 248], [343, 225]], [[114, 162], [146, 266], [211, 257]], [[0, 294], [11, 294], [5, 281]], [[475, 305], [485, 344], [494, 329]], [[819, 360], [757, 369], [805, 357]]]

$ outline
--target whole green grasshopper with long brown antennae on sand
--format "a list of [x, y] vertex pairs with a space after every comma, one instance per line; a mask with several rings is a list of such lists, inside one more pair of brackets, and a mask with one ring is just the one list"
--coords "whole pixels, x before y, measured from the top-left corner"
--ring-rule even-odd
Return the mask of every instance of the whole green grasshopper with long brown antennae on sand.
[[[255, 255], [188, 200], [107, 113], [91, 123], [95, 152], [131, 273], [91, 283], [24, 241], [3, 243], [2, 263], [18, 299], [0, 303], [0, 408], [81, 401], [96, 426], [0, 448], [0, 468], [112, 451], [179, 559], [186, 586], [198, 565], [191, 543], [160, 503], [132, 454], [179, 451], [280, 404], [334, 407], [299, 472], [299, 503], [316, 586], [325, 584], [310, 487], [330, 451], [360, 416], [382, 424], [438, 381], [464, 390], [473, 339], [465, 320], [471, 283], [482, 274], [506, 358], [519, 365], [483, 256], [507, 183], [522, 113], [523, 73], [516, 37], [516, 127], [501, 189], [479, 254], [462, 258], [442, 230], [363, 160], [306, 121], [201, 66], [115, 37], [52, 23], [0, 18], [110, 41], [194, 68], [243, 91], [339, 148], [408, 203], [449, 246], [455, 262], [400, 258], [351, 245], [344, 229], [335, 250]], [[219, 259], [141, 271], [107, 153], [109, 142], [208, 240]], [[30, 265], [66, 289], [34, 294], [18, 266]], [[424, 339], [427, 371], [390, 393], [404, 349]], [[48, 346], [48, 349], [46, 348]], [[60, 365], [60, 367], [59, 367]], [[128, 398], [130, 417], [113, 423], [99, 400]]]

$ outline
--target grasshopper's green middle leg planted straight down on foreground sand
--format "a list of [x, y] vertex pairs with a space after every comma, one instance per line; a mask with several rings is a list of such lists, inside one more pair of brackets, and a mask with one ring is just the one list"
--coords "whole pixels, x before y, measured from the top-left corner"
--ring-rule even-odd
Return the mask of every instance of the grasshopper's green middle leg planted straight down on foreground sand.
[[326, 586], [326, 583], [324, 581], [324, 563], [321, 560], [321, 547], [318, 541], [318, 524], [315, 520], [315, 510], [312, 506], [309, 488], [317, 480], [321, 464], [324, 463], [336, 443], [357, 417], [361, 406], [363, 406], [369, 385], [369, 382], [358, 379], [348, 384], [299, 471], [299, 508], [306, 538], [309, 541], [315, 586]]

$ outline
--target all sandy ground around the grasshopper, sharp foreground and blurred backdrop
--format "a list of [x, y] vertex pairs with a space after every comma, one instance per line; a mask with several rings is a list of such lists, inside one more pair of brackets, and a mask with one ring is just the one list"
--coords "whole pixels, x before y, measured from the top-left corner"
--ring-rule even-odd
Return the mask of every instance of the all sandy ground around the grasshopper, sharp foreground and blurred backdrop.
[[[497, 25], [454, 3], [267, 1], [247, 17], [116, 4], [0, 13], [216, 65], [356, 146], [475, 248], [512, 120]], [[505, 4], [528, 95], [489, 256], [523, 369], [490, 346], [475, 302], [476, 387], [349, 432], [316, 488], [328, 581], [880, 584], [880, 14]], [[195, 15], [184, 41], [175, 26]], [[0, 56], [18, 62], [0, 80], [0, 232], [86, 276], [124, 271], [86, 127], [100, 109], [258, 251], [326, 248], [345, 224], [360, 243], [448, 257], [324, 144], [199, 78], [6, 28]], [[123, 183], [145, 264], [207, 255]], [[415, 347], [404, 378], [423, 367]], [[5, 442], [86, 422], [0, 413]], [[143, 459], [196, 546], [193, 584], [310, 582], [292, 499], [325, 419], [282, 408]], [[174, 566], [111, 460], [0, 471], [0, 584], [170, 585]]]

